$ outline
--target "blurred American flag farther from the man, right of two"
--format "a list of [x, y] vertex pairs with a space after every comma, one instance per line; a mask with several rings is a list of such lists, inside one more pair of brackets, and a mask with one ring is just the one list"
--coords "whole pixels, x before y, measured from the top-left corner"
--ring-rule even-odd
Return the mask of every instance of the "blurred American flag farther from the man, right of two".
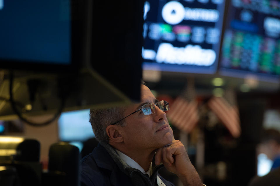
[[209, 108], [216, 114], [220, 121], [227, 127], [230, 134], [237, 138], [241, 134], [239, 111], [234, 101], [234, 93], [228, 90], [225, 97], [213, 96], [209, 102]]

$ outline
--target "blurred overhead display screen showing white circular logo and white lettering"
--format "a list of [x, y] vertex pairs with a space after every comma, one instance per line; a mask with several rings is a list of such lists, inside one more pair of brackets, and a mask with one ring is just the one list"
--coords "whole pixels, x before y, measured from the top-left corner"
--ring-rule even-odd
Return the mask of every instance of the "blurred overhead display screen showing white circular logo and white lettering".
[[146, 1], [143, 69], [213, 74], [225, 0]]

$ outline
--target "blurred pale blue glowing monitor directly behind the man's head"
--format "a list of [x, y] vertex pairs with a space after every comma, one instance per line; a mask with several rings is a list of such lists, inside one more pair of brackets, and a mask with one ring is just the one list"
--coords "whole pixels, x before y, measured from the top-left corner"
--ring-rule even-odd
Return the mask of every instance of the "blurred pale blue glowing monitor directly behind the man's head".
[[95, 137], [90, 122], [89, 109], [63, 112], [58, 120], [60, 141], [83, 142]]

